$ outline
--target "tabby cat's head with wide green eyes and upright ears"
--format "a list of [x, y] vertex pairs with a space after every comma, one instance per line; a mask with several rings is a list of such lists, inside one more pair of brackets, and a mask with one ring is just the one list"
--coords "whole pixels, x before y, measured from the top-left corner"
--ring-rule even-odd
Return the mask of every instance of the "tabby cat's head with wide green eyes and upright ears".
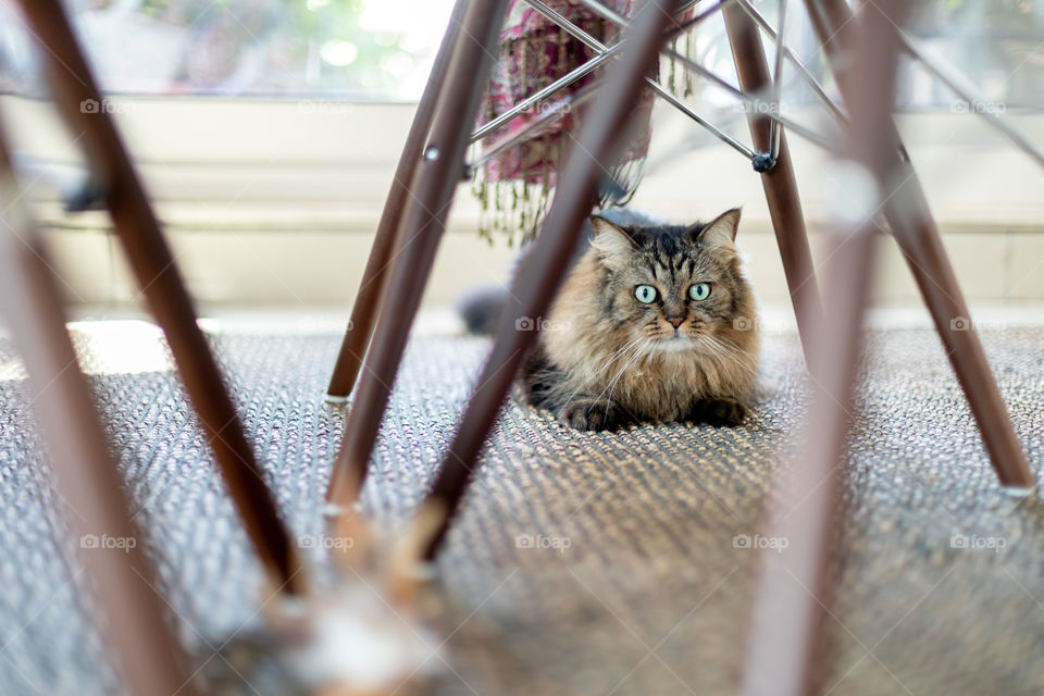
[[733, 245], [738, 222], [738, 210], [689, 227], [618, 227], [592, 217], [606, 269], [605, 319], [623, 339], [666, 352], [693, 350], [732, 330], [750, 293]]

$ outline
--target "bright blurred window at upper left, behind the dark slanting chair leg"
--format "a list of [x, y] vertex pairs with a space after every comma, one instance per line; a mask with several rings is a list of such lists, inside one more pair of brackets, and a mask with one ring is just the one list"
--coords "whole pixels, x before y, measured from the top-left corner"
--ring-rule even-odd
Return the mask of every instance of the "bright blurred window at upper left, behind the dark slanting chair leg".
[[[449, 0], [65, 0], [109, 94], [415, 100]], [[0, 0], [0, 88], [36, 86]]]

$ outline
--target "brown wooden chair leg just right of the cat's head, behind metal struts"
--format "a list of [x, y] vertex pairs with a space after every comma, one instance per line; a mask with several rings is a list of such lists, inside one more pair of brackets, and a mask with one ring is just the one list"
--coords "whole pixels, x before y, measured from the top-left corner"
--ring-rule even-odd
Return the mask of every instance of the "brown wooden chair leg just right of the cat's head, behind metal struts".
[[[746, 92], [759, 94], [771, 84], [759, 29], [743, 8], [735, 3], [722, 10], [722, 13], [736, 63], [736, 74], [739, 76], [739, 87]], [[758, 152], [771, 152], [771, 119], [765, 114], [751, 113], [747, 121], [755, 149]], [[761, 185], [769, 204], [775, 240], [783, 260], [783, 273], [791, 291], [791, 302], [794, 304], [807, 361], [811, 327], [822, 319], [823, 308], [816, 283], [812, 254], [808, 247], [808, 233], [805, 229], [805, 215], [797, 194], [794, 166], [783, 133], [780, 133], [775, 163], [768, 171], [761, 172]]]

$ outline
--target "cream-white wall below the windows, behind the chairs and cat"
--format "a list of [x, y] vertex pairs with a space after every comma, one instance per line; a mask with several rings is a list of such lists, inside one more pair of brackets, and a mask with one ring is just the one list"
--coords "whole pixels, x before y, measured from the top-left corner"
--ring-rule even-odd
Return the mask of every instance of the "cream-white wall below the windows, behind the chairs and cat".
[[[194, 295], [203, 303], [346, 304], [365, 263], [412, 108], [408, 104], [122, 98], [112, 108], [165, 223]], [[75, 157], [49, 104], [0, 98], [18, 150]], [[1006, 114], [1044, 144], [1044, 119]], [[807, 121], [807, 119], [806, 119]], [[1044, 299], [1044, 171], [973, 116], [907, 114], [900, 125], [972, 301]], [[786, 288], [760, 182], [720, 145], [684, 151], [691, 123], [659, 112], [650, 172], [634, 204], [691, 221], [742, 204], [739, 245], [766, 303]], [[746, 139], [735, 115], [732, 130]], [[791, 138], [806, 215], [819, 246], [826, 220], [826, 159]], [[23, 182], [45, 223], [71, 300], [136, 301], [100, 213], [66, 216], [35, 174]], [[505, 277], [512, 250], [475, 234], [477, 208], [462, 186], [428, 289], [451, 302], [467, 286]], [[881, 303], [909, 303], [916, 289], [882, 239]]]

